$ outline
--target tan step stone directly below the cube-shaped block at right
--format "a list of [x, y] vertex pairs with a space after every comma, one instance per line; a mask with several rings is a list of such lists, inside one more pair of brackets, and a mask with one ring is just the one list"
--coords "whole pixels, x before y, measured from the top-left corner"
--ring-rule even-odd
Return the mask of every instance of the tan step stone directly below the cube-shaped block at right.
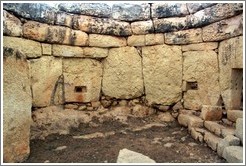
[[204, 127], [219, 137], [234, 135], [235, 128], [219, 124], [217, 121], [205, 121]]

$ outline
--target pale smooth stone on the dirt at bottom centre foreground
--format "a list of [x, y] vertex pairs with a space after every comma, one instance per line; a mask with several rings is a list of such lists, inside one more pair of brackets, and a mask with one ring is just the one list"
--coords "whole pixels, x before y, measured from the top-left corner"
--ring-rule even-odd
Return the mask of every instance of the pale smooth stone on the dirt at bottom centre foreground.
[[117, 163], [155, 163], [155, 161], [141, 153], [122, 149], [119, 151]]

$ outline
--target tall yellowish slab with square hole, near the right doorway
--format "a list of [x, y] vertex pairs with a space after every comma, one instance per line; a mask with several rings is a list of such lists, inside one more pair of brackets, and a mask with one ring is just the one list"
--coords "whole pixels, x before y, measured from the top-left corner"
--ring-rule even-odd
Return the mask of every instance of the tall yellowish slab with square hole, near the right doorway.
[[184, 107], [200, 110], [202, 105], [217, 105], [220, 97], [219, 68], [214, 51], [183, 53]]

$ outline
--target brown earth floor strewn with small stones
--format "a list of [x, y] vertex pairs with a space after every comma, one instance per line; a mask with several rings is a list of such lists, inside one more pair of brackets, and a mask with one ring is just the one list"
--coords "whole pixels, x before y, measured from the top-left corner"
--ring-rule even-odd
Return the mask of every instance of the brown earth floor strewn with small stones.
[[157, 163], [226, 163], [176, 121], [156, 123], [156, 117], [128, 118], [81, 124], [69, 135], [32, 140], [25, 163], [115, 163], [121, 149], [142, 153]]

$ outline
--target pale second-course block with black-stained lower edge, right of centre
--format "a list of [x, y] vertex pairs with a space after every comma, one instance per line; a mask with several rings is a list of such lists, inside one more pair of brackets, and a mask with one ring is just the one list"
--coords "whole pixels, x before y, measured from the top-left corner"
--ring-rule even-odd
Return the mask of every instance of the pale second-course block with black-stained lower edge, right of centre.
[[165, 33], [187, 29], [186, 17], [154, 19], [155, 32]]

